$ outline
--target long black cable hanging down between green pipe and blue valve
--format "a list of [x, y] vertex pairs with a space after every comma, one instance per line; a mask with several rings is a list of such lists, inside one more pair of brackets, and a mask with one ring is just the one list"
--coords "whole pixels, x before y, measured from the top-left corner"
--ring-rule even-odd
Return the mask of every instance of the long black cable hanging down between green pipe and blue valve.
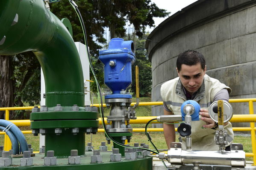
[[[95, 72], [94, 72], [94, 69], [93, 69], [93, 66], [92, 66], [92, 63], [91, 63], [90, 53], [89, 53], [89, 50], [88, 50], [88, 47], [87, 47], [87, 46], [88, 46], [88, 41], [87, 41], [87, 35], [86, 35], [85, 24], [84, 24], [84, 22], [83, 22], [83, 20], [82, 20], [82, 15], [81, 15], [81, 13], [80, 13], [80, 11], [79, 11], [79, 9], [78, 9], [77, 4], [75, 4], [73, 0], [69, 0], [69, 1], [70, 1], [70, 3], [75, 7], [75, 10], [76, 10], [76, 12], [77, 12], [77, 14], [79, 15], [79, 18], [80, 18], [80, 20], [81, 20], [82, 29], [83, 29], [84, 34], [85, 34], [85, 44], [86, 44], [86, 50], [87, 50], [87, 54], [88, 54], [89, 64], [90, 64], [90, 66], [91, 66], [91, 71], [92, 71], [93, 75], [95, 75]], [[103, 121], [102, 121], [103, 128], [104, 128], [105, 133], [106, 133], [106, 135], [108, 136], [108, 138], [109, 138], [110, 140], [112, 140], [112, 141], [115, 141], [115, 140], [109, 135], [109, 133], [108, 133], [107, 130], [106, 130], [106, 124], [105, 124], [105, 121], [104, 121], [104, 111], [103, 111], [103, 99], [102, 99], [102, 95], [101, 95], [100, 84], [98, 83], [98, 81], [95, 81], [95, 82], [96, 82], [96, 85], [97, 85], [97, 87], [98, 87], [98, 89], [99, 89], [99, 93], [100, 93], [100, 103], [101, 103], [101, 104], [100, 104], [100, 105], [101, 105], [100, 107], [101, 107], [101, 114], [102, 114], [102, 118], [103, 118]], [[115, 143], [117, 143], [117, 144], [119, 144], [119, 145], [121, 145], [121, 146], [123, 146], [123, 147], [138, 148], [138, 149], [147, 150], [147, 151], [153, 152], [153, 153], [155, 153], [155, 154], [158, 154], [157, 152], [155, 152], [155, 151], [153, 151], [153, 150], [150, 150], [150, 149], [147, 149], [147, 148], [127, 146], [127, 145], [121, 144], [121, 143], [119, 143], [119, 142], [117, 142], [117, 141], [115, 141]]]

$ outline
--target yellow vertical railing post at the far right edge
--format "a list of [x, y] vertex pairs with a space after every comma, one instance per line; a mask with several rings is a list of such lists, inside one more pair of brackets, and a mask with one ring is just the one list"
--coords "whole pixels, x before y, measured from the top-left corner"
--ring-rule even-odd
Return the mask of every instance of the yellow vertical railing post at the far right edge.
[[[250, 115], [254, 114], [254, 110], [253, 110], [253, 101], [249, 101], [249, 113]], [[252, 140], [252, 150], [253, 150], [253, 165], [256, 165], [256, 137], [255, 137], [255, 130], [254, 130], [254, 122], [250, 123], [250, 127], [251, 127], [251, 140]]]

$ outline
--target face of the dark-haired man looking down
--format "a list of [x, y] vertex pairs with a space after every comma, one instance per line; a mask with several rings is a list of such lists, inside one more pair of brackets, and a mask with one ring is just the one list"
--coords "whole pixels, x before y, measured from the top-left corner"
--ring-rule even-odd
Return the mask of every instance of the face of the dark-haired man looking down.
[[180, 71], [177, 69], [177, 72], [182, 85], [192, 95], [192, 93], [196, 92], [203, 84], [206, 66], [202, 69], [200, 63], [193, 66], [182, 64]]

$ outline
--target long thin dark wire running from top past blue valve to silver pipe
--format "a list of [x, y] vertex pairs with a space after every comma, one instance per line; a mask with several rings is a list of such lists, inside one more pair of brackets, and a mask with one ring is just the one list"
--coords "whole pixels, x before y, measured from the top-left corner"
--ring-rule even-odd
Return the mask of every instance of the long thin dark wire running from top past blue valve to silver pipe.
[[86, 50], [87, 50], [87, 54], [88, 54], [88, 61], [89, 61], [89, 66], [91, 68], [91, 72], [92, 74], [94, 75], [94, 79], [95, 79], [95, 82], [96, 82], [96, 85], [97, 85], [97, 91], [98, 91], [98, 98], [99, 98], [99, 103], [100, 103], [100, 114], [101, 114], [101, 119], [102, 119], [102, 124], [103, 124], [103, 129], [105, 130], [105, 134], [106, 136], [115, 144], [119, 145], [119, 146], [122, 146], [122, 147], [131, 147], [131, 148], [136, 148], [136, 149], [142, 149], [142, 150], [148, 150], [152, 153], [156, 153], [155, 151], [153, 150], [150, 150], [150, 149], [147, 149], [147, 148], [144, 148], [144, 147], [132, 147], [132, 146], [127, 146], [127, 145], [124, 145], [124, 144], [121, 144], [117, 141], [115, 141], [110, 135], [109, 133], [107, 132], [106, 130], [106, 124], [105, 124], [105, 121], [104, 121], [104, 112], [103, 112], [103, 99], [102, 99], [102, 95], [101, 95], [101, 90], [100, 90], [100, 85], [97, 81], [97, 78], [96, 78], [96, 75], [95, 75], [95, 72], [94, 72], [94, 69], [93, 69], [93, 66], [92, 66], [92, 63], [91, 63], [91, 58], [90, 58], [90, 53], [89, 53], [89, 50], [88, 50], [88, 41], [87, 41], [87, 37], [86, 37], [86, 30], [85, 30], [85, 25], [84, 25], [84, 22], [82, 20], [82, 15], [81, 13], [79, 12], [79, 9], [78, 9], [78, 6], [76, 3], [74, 3], [73, 0], [69, 0], [69, 2], [71, 3], [71, 6], [73, 6], [73, 8], [75, 9], [75, 11], [77, 12], [77, 15], [79, 17], [79, 20], [80, 20], [80, 23], [82, 25], [82, 31], [83, 31], [83, 35], [84, 35], [84, 39], [85, 39], [85, 46], [87, 47]]

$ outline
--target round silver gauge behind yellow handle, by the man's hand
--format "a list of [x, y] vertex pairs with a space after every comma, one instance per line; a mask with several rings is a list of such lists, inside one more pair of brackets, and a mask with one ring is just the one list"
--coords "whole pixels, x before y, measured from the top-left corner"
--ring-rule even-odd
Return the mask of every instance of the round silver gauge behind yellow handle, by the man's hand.
[[[218, 122], [218, 101], [213, 102], [209, 107], [209, 115], [213, 121]], [[223, 121], [228, 122], [233, 116], [233, 108], [227, 101], [223, 101]]]

